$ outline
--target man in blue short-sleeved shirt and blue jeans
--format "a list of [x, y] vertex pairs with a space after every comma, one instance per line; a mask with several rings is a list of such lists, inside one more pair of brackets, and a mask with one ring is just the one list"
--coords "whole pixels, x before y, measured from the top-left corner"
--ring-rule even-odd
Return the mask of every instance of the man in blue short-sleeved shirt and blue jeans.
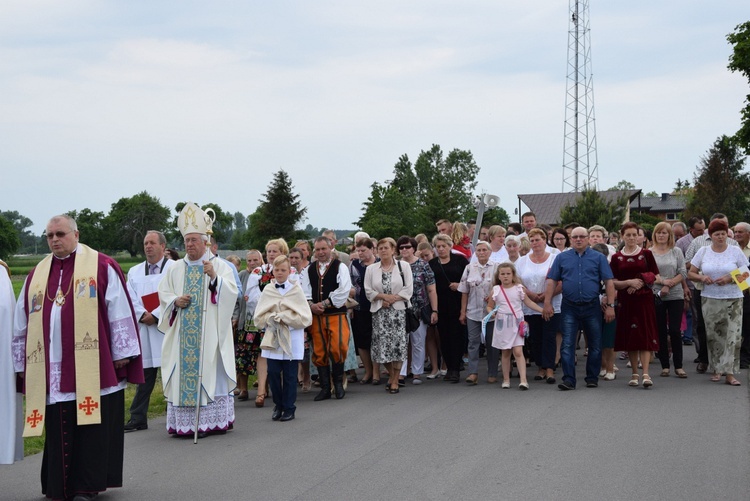
[[563, 381], [558, 388], [575, 390], [575, 343], [578, 329], [583, 327], [588, 335], [589, 356], [586, 360], [586, 386], [596, 388], [599, 384], [599, 371], [602, 366], [602, 312], [599, 304], [599, 291], [604, 282], [607, 295], [604, 319], [615, 319], [615, 285], [612, 270], [603, 254], [589, 247], [586, 228], [579, 226], [570, 234], [572, 249], [560, 253], [547, 273], [547, 288], [544, 293], [545, 320], [552, 318], [552, 295], [557, 282], [562, 281], [562, 306], [560, 324], [562, 346], [560, 363], [563, 368]]

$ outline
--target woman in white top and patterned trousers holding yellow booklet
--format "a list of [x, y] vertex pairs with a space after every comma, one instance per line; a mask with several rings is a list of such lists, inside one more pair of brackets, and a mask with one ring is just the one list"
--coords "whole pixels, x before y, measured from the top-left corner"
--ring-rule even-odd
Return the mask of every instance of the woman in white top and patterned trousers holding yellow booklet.
[[734, 374], [740, 368], [742, 291], [730, 273], [748, 262], [739, 246], [727, 245], [728, 230], [723, 219], [711, 221], [711, 245], [701, 247], [690, 260], [688, 278], [703, 283], [701, 309], [706, 322], [708, 366], [714, 373], [711, 381], [721, 381], [721, 375], [726, 374], [727, 384], [739, 386]]

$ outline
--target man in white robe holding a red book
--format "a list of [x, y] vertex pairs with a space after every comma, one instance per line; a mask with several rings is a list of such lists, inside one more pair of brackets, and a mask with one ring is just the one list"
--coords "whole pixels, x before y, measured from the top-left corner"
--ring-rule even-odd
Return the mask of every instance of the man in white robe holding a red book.
[[130, 420], [125, 423], [126, 432], [148, 429], [148, 404], [161, 366], [161, 345], [164, 342], [164, 334], [157, 328], [160, 308], [157, 288], [164, 271], [174, 264], [165, 255], [166, 249], [167, 239], [164, 233], [147, 231], [143, 238], [146, 261], [133, 266], [128, 272], [128, 293], [138, 319], [143, 350], [143, 376], [146, 382], [138, 385], [135, 392], [130, 405]]

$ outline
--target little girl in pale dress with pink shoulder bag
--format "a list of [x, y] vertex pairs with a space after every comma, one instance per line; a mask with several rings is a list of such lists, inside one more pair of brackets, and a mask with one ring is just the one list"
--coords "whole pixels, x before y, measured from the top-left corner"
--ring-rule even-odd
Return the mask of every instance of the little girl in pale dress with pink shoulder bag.
[[524, 293], [521, 280], [516, 275], [516, 267], [508, 262], [499, 264], [495, 270], [492, 293], [487, 301], [487, 311], [491, 313], [497, 305], [492, 347], [503, 352], [503, 389], [510, 388], [511, 350], [516, 358], [518, 375], [521, 377], [518, 388], [529, 389], [529, 383], [526, 381], [526, 359], [523, 356], [523, 337], [518, 334], [518, 326], [523, 321], [522, 303], [534, 311], [542, 312], [542, 308]]

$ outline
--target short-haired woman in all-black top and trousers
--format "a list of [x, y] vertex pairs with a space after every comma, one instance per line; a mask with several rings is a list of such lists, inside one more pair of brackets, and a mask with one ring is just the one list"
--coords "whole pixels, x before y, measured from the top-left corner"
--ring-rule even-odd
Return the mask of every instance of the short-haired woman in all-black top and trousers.
[[[430, 261], [430, 268], [435, 274], [435, 285], [438, 296], [438, 333], [440, 351], [443, 354], [447, 373], [443, 378], [450, 383], [458, 383], [461, 377], [461, 356], [464, 351], [464, 329], [459, 317], [461, 315], [461, 293], [458, 285], [464, 268], [469, 264], [460, 254], [451, 252], [453, 241], [448, 235], [435, 235], [432, 239], [437, 257]], [[433, 368], [435, 363], [433, 362]]]

